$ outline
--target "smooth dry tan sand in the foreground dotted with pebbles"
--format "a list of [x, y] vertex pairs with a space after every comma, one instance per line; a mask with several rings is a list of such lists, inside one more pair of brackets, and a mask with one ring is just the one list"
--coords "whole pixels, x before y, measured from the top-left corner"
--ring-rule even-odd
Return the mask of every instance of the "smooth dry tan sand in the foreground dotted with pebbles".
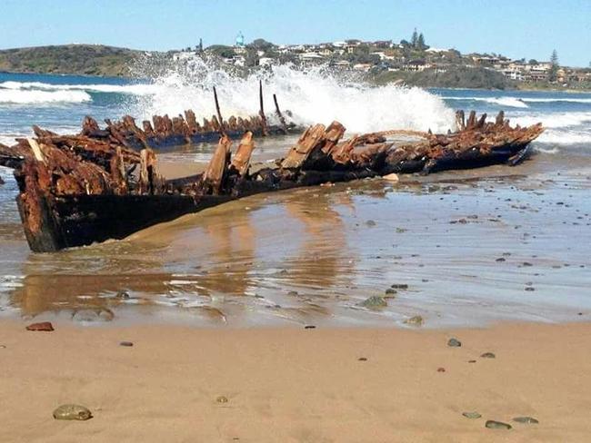
[[[462, 347], [448, 347], [451, 337]], [[0, 441], [556, 443], [591, 435], [588, 323], [426, 331], [59, 322], [54, 332], [31, 332], [4, 321], [0, 345]], [[64, 403], [95, 417], [57, 421], [52, 411]], [[512, 421], [519, 416], [539, 424]], [[487, 419], [513, 429], [485, 428]]]

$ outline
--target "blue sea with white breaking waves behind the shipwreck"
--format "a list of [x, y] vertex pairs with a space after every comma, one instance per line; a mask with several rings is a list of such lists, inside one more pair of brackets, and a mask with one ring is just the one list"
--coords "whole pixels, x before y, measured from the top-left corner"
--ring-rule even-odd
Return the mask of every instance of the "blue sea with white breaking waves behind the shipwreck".
[[[126, 113], [149, 119], [155, 113], [176, 115], [192, 108], [198, 116], [215, 113], [212, 86], [220, 91], [227, 114], [257, 112], [257, 82], [209, 73], [186, 78], [178, 73], [150, 82], [77, 75], [0, 73], [0, 143], [31, 134], [37, 124], [57, 133], [75, 133], [85, 115], [99, 122]], [[372, 88], [343, 84], [326, 74], [301, 74], [279, 68], [266, 79], [271, 94], [294, 114], [296, 123], [336, 119], [349, 132], [413, 128], [444, 131], [453, 124], [451, 110], [476, 110], [494, 116], [500, 110], [514, 123], [542, 122], [546, 133], [536, 142], [544, 150], [580, 149], [591, 143], [591, 94], [559, 92]], [[326, 123], [326, 122], [325, 122]]]

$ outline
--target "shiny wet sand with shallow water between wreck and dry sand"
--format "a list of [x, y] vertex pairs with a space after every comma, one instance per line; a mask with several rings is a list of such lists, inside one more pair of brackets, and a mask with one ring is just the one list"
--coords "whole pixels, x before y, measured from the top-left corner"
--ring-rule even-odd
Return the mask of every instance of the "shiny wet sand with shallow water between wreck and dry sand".
[[[586, 319], [591, 169], [537, 160], [257, 195], [55, 254], [28, 251], [6, 201], [0, 310], [195, 326]], [[393, 284], [408, 288], [386, 295]], [[359, 306], [376, 295], [386, 307]]]

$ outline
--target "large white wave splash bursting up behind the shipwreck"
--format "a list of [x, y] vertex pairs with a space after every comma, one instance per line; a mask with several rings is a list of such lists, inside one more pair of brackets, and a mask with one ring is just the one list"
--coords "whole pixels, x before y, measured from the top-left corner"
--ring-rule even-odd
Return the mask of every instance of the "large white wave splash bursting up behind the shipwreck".
[[149, 118], [155, 113], [177, 115], [193, 109], [198, 116], [215, 114], [213, 87], [223, 115], [258, 113], [258, 81], [263, 81], [265, 112], [274, 118], [273, 94], [295, 123], [330, 123], [338, 120], [349, 133], [408, 128], [446, 131], [454, 113], [435, 94], [419, 88], [371, 87], [337, 78], [323, 67], [302, 71], [289, 65], [246, 78], [224, 71], [195, 66], [193, 72], [171, 69], [155, 79], [155, 94], [142, 97], [130, 113]]

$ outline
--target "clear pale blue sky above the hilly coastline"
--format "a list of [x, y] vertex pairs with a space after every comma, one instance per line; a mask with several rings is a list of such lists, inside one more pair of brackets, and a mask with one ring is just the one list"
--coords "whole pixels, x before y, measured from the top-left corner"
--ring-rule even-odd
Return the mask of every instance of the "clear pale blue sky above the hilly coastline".
[[167, 50], [359, 38], [426, 43], [561, 64], [591, 62], [591, 0], [0, 0], [0, 48], [93, 43]]

